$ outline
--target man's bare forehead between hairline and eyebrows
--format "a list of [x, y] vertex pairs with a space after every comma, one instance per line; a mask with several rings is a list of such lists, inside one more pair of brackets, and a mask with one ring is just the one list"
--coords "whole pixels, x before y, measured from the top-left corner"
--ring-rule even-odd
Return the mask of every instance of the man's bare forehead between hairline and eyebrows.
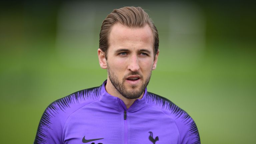
[[109, 34], [109, 47], [113, 45], [135, 45], [153, 47], [153, 33], [148, 25], [141, 28], [129, 28], [120, 23], [114, 24]]

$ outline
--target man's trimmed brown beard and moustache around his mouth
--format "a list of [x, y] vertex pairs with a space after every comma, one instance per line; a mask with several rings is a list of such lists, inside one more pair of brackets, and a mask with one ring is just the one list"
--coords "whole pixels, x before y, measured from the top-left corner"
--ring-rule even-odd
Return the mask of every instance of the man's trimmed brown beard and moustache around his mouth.
[[141, 80], [144, 80], [144, 77], [139, 73], [139, 72], [130, 72], [128, 74], [126, 74], [123, 78], [122, 78], [122, 82], [118, 80], [117, 76], [115, 75], [115, 73], [110, 69], [110, 67], [107, 67], [107, 71], [108, 71], [108, 76], [109, 79], [111, 81], [111, 83], [113, 84], [113, 86], [115, 87], [115, 89], [125, 98], [127, 99], [137, 99], [139, 98], [143, 92], [145, 91], [150, 77], [151, 77], [151, 72], [149, 74], [149, 76], [146, 78], [146, 81], [139, 87], [138, 90], [136, 90], [135, 88], [137, 86], [132, 86], [131, 90], [128, 90], [125, 88], [124, 83], [125, 83], [125, 78], [130, 76], [130, 75], [139, 75]]

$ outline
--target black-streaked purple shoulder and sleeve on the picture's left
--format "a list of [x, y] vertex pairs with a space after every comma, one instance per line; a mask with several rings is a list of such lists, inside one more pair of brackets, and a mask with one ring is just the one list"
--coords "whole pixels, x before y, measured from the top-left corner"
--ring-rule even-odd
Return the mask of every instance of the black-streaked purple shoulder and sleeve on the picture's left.
[[52, 139], [61, 142], [67, 118], [83, 106], [98, 100], [101, 92], [102, 86], [84, 89], [52, 102], [41, 117], [35, 143], [51, 143]]

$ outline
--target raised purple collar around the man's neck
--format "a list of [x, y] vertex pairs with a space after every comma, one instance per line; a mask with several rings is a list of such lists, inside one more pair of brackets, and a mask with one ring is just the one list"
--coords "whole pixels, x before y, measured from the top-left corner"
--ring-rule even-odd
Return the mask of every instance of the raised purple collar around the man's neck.
[[143, 97], [141, 99], [137, 99], [134, 101], [134, 103], [127, 109], [124, 102], [115, 96], [110, 95], [105, 88], [105, 85], [107, 83], [107, 80], [103, 82], [101, 85], [101, 97], [99, 99], [100, 102], [104, 104], [104, 106], [112, 109], [116, 109], [118, 111], [128, 111], [128, 112], [136, 112], [143, 107], [145, 107], [146, 104], [146, 95], [147, 95], [147, 88], [144, 91]]

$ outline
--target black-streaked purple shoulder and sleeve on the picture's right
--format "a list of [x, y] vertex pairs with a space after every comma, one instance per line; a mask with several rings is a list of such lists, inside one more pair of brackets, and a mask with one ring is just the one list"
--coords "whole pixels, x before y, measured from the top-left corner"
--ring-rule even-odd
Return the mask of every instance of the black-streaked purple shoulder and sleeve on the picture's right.
[[150, 105], [161, 109], [175, 121], [180, 132], [181, 143], [200, 143], [196, 123], [185, 110], [175, 105], [169, 99], [150, 92], [147, 94], [147, 102]]

